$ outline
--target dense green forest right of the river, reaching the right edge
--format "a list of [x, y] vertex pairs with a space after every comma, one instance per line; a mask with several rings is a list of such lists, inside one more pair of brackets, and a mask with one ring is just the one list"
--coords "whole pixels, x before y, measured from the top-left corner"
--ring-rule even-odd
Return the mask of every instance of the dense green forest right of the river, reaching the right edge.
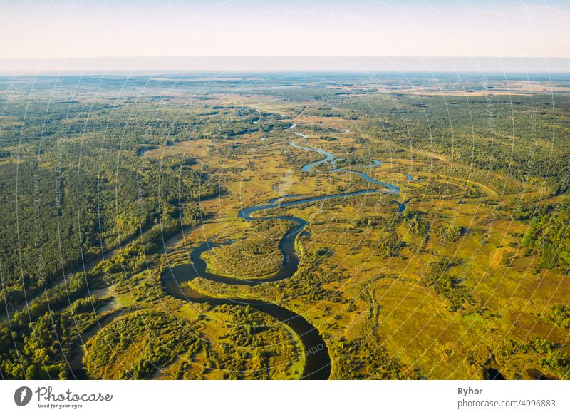
[[371, 121], [362, 127], [367, 135], [434, 151], [483, 172], [525, 182], [541, 178], [552, 191], [567, 191], [570, 139], [556, 133], [570, 124], [565, 94], [525, 96], [516, 106], [506, 96], [422, 96], [418, 101], [417, 96], [398, 93], [372, 94], [366, 104], [356, 96], [319, 98]]

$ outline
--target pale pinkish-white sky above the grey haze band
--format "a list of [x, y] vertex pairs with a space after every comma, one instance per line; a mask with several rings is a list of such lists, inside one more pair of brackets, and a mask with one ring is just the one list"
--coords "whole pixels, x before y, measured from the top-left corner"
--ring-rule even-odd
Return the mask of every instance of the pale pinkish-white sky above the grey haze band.
[[0, 11], [2, 61], [118, 56], [570, 58], [568, 0], [0, 0]]

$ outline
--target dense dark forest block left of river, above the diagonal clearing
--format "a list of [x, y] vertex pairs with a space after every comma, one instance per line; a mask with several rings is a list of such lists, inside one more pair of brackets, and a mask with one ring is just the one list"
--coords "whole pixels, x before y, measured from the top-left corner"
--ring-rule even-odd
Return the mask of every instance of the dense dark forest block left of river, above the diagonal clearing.
[[87, 152], [84, 157], [79, 169], [51, 170], [28, 161], [0, 166], [0, 302], [7, 311], [155, 223], [180, 221], [178, 203], [187, 206], [183, 223], [194, 225], [197, 200], [218, 192], [180, 158], [160, 165], [125, 157], [117, 168], [95, 166]]

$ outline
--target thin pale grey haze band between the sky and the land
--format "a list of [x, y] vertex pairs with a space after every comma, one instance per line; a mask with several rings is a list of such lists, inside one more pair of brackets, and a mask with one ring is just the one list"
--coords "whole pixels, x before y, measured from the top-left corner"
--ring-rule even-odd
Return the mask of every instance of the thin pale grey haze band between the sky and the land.
[[81, 73], [570, 73], [568, 58], [466, 56], [115, 56], [0, 59], [2, 75]]

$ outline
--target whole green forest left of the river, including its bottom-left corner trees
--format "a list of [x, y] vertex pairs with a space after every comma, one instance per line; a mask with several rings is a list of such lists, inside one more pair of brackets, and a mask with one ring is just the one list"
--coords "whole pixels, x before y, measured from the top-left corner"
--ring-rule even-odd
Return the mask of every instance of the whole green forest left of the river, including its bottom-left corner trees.
[[[157, 119], [152, 99], [141, 101], [131, 125], [132, 108], [120, 99], [116, 112], [105, 100], [92, 108], [54, 103], [44, 123], [47, 101], [36, 97], [22, 128], [24, 98], [1, 120], [0, 149], [18, 143], [21, 151], [0, 165], [0, 312], [10, 314], [0, 322], [0, 374], [66, 377], [66, 354], [100, 317], [90, 290], [120, 285], [152, 264], [181, 225], [207, 215], [198, 201], [219, 188], [191, 159], [140, 157], [141, 148], [192, 129]], [[95, 265], [103, 252], [112, 255]], [[160, 296], [160, 287], [139, 288], [145, 299]]]

